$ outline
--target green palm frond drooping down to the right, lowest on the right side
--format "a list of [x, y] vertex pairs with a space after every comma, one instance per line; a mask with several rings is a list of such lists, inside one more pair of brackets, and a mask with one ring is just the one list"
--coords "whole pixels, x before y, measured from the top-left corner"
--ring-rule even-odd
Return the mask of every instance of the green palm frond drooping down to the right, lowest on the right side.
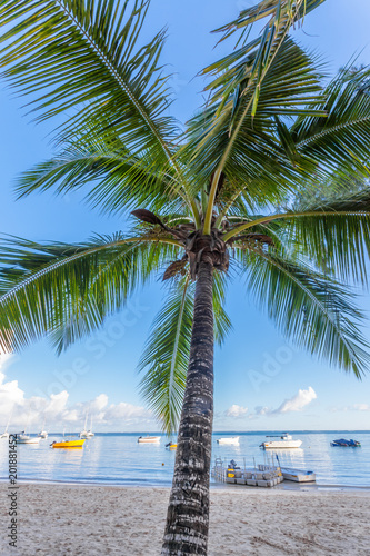
[[370, 364], [369, 345], [359, 328], [363, 316], [348, 287], [278, 252], [237, 249], [237, 258], [249, 290], [286, 337], [361, 377]]

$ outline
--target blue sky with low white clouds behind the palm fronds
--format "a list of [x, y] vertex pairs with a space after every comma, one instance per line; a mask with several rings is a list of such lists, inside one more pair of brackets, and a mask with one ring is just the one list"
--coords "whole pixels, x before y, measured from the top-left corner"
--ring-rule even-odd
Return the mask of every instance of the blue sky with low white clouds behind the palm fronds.
[[[177, 100], [170, 110], [184, 122], [203, 101], [197, 73], [228, 53], [216, 49], [210, 31], [238, 16], [253, 1], [152, 0], [148, 33], [168, 27], [163, 52]], [[354, 54], [370, 63], [368, 0], [327, 0], [309, 14], [293, 37], [322, 54], [337, 71]], [[78, 193], [52, 193], [16, 200], [17, 176], [52, 153], [56, 121], [34, 125], [24, 99], [0, 80], [1, 203], [0, 234], [32, 240], [82, 241], [92, 232], [126, 227], [81, 202]], [[139, 291], [128, 307], [109, 318], [94, 336], [57, 357], [42, 340], [17, 355], [0, 355], [0, 428], [79, 431], [87, 411], [96, 431], [154, 431], [158, 424], [138, 391], [136, 367], [151, 321], [164, 296], [160, 277]], [[361, 306], [370, 314], [369, 294]], [[242, 281], [228, 289], [226, 309], [233, 330], [216, 349], [214, 430], [353, 430], [370, 429], [370, 377], [362, 381], [296, 349], [249, 298]], [[370, 321], [364, 328], [370, 340]], [[12, 415], [11, 415], [12, 414]]]

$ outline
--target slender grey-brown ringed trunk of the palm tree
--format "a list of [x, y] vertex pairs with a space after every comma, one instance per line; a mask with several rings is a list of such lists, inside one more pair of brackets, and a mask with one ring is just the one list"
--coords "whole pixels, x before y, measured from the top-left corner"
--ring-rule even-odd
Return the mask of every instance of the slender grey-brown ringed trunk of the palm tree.
[[213, 419], [213, 266], [201, 261], [162, 555], [207, 555]]

